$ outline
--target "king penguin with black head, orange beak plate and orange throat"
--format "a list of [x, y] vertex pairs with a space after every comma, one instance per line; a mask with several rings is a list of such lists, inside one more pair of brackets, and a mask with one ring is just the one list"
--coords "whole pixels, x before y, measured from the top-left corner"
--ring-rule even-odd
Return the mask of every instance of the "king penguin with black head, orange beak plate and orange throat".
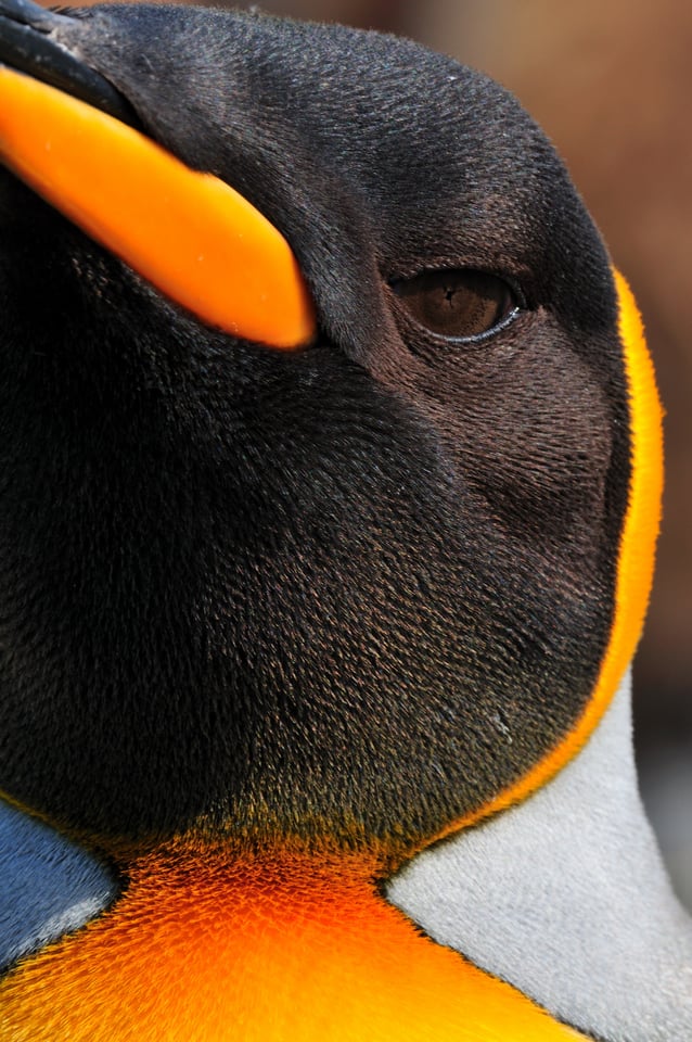
[[639, 315], [516, 101], [2, 0], [2, 1042], [689, 1042]]

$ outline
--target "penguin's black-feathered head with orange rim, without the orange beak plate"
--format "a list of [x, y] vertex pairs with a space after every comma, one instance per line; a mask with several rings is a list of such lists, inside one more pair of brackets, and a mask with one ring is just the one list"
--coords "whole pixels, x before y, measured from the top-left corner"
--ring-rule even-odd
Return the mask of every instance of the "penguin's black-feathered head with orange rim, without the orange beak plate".
[[218, 328], [3, 144], [0, 788], [106, 847], [396, 862], [564, 762], [631, 657], [658, 414], [607, 253], [516, 101], [412, 42], [41, 16], [281, 232], [316, 318]]

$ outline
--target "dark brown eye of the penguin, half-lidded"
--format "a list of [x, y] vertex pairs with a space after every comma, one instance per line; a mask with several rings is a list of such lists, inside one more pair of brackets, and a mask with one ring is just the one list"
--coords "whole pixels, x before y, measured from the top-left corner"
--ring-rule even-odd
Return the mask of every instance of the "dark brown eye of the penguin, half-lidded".
[[471, 268], [423, 271], [392, 288], [420, 326], [452, 340], [484, 338], [518, 310], [516, 294], [504, 279]]

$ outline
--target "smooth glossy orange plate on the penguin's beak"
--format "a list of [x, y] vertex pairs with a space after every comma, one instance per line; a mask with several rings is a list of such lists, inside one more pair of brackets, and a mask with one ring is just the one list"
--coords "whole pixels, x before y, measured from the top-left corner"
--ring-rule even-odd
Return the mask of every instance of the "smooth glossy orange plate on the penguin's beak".
[[311, 296], [281, 232], [119, 119], [0, 66], [0, 160], [203, 322], [285, 350], [313, 338]]

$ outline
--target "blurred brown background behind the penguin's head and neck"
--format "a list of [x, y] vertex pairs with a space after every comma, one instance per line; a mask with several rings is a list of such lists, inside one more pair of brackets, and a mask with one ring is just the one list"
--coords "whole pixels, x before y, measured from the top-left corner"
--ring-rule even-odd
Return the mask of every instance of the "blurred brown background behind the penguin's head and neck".
[[[236, 4], [242, 7], [243, 4]], [[668, 417], [657, 579], [636, 669], [645, 801], [692, 906], [692, 5], [265, 0], [402, 33], [489, 73], [567, 161], [644, 313]]]

